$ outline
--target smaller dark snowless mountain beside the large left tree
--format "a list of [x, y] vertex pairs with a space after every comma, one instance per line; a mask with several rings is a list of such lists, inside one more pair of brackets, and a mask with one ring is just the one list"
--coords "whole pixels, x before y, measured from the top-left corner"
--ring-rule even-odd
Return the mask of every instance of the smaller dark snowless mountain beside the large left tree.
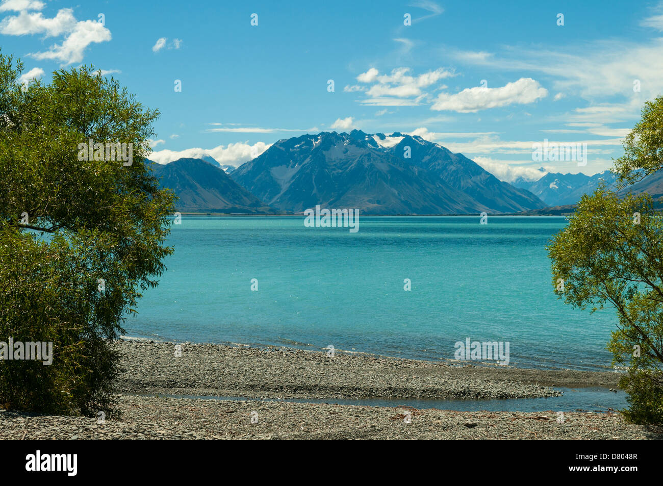
[[150, 164], [162, 188], [178, 196], [179, 212], [275, 213], [230, 178], [219, 166], [200, 158], [180, 158], [168, 164]]

